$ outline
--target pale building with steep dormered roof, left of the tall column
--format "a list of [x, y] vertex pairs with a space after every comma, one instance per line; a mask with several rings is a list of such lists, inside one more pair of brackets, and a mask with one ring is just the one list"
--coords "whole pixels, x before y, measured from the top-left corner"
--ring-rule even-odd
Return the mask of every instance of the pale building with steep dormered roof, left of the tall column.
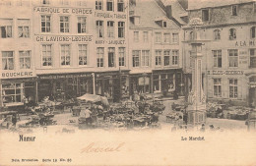
[[[130, 93], [183, 94], [181, 6], [161, 1], [130, 3]], [[177, 2], [175, 2], [177, 4]], [[172, 7], [172, 8], [171, 8]], [[149, 10], [151, 9], [151, 10]], [[154, 15], [152, 15], [154, 13]], [[179, 19], [179, 20], [178, 20]]]

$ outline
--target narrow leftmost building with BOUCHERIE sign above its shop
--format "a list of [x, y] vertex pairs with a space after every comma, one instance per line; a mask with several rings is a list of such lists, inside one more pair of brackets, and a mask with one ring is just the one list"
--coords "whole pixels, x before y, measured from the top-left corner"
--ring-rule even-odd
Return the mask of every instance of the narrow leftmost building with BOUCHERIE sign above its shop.
[[23, 105], [25, 97], [36, 100], [31, 9], [30, 1], [0, 4], [0, 107]]

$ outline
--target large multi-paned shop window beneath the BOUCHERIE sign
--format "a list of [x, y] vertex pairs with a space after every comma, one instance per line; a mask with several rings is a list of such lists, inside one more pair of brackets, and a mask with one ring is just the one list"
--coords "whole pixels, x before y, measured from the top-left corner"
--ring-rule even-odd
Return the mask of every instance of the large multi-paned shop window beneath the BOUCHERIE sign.
[[7, 83], [3, 84], [3, 103], [22, 102], [24, 94], [23, 83]]

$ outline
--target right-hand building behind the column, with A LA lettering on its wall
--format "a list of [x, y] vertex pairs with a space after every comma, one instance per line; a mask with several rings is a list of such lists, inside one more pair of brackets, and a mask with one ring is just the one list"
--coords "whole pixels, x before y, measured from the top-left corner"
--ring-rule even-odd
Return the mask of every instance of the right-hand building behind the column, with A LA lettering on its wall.
[[[208, 100], [238, 105], [255, 103], [255, 1], [199, 3], [189, 7], [189, 19], [200, 18], [204, 40], [203, 86]], [[200, 4], [200, 5], [198, 5]], [[190, 90], [191, 46], [194, 34], [184, 28], [184, 72]]]

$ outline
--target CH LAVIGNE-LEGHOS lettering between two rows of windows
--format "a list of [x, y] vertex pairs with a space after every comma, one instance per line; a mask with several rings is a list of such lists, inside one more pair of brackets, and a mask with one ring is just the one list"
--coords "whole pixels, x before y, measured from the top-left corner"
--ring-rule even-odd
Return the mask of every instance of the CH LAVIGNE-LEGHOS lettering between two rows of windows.
[[69, 36], [63, 36], [63, 35], [37, 35], [35, 36], [36, 41], [40, 42], [54, 42], [54, 41], [63, 41], [63, 42], [70, 42], [70, 41], [84, 41], [84, 42], [91, 42], [93, 40], [92, 35], [69, 35]]

